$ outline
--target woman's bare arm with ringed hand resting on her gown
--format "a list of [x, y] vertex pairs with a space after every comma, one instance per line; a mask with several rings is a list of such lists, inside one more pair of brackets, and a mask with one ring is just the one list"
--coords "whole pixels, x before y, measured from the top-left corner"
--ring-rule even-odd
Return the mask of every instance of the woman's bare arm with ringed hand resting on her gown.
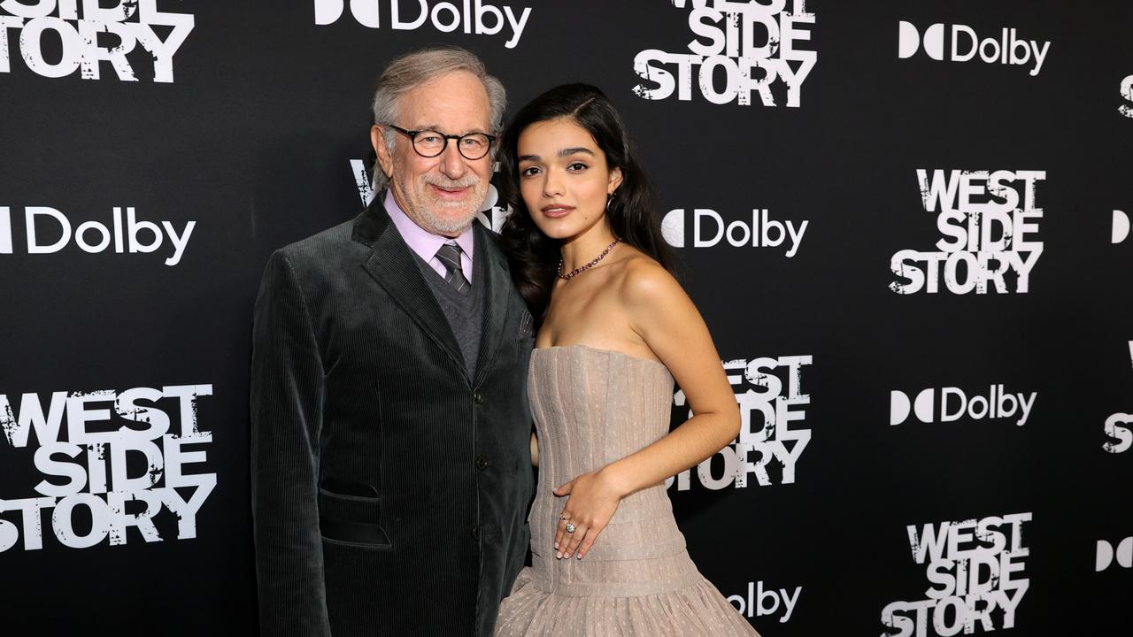
[[664, 269], [634, 260], [621, 290], [630, 329], [668, 367], [695, 416], [645, 449], [555, 490], [570, 495], [559, 525], [559, 555], [586, 555], [622, 498], [657, 484], [719, 451], [740, 432], [740, 409], [716, 346], [692, 300]]

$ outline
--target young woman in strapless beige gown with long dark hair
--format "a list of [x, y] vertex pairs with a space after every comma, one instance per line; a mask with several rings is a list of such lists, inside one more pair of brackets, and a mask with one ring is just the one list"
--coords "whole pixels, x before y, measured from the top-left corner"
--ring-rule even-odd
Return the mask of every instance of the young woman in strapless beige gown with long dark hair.
[[[668, 271], [645, 173], [593, 86], [523, 107], [501, 139], [512, 277], [539, 323], [528, 381], [533, 567], [496, 635], [751, 636], [696, 569], [665, 478], [735, 439], [712, 337]], [[673, 381], [696, 416], [668, 432]], [[536, 448], [537, 444], [537, 448]]]

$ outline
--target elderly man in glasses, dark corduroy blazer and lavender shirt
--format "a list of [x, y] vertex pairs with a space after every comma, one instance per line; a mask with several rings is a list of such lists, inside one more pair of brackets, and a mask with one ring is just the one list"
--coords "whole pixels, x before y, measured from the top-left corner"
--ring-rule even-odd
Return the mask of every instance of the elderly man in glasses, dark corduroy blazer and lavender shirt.
[[503, 109], [467, 51], [394, 60], [370, 135], [386, 189], [267, 263], [252, 368], [263, 635], [492, 635], [531, 495], [531, 317], [472, 223]]

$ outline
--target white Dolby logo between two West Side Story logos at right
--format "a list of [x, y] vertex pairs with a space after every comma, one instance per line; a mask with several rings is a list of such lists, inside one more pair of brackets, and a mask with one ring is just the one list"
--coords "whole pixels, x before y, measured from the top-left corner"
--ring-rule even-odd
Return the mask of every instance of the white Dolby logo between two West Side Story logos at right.
[[[937, 397], [939, 396], [939, 401]], [[971, 421], [1015, 418], [1023, 426], [1034, 407], [1038, 392], [1007, 393], [1002, 384], [990, 385], [988, 394], [969, 397], [960, 388], [946, 387], [939, 390], [926, 389], [909, 400], [909, 394], [893, 390], [889, 392], [889, 425], [900, 425], [909, 419], [910, 413], [922, 423], [949, 423], [966, 416]]]

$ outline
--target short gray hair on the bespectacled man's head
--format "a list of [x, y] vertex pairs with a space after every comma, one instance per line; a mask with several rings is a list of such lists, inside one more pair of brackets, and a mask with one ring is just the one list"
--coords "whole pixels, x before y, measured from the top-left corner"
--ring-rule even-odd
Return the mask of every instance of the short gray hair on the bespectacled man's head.
[[[492, 134], [499, 134], [508, 94], [495, 77], [487, 74], [484, 62], [472, 52], [459, 46], [438, 46], [414, 51], [397, 58], [385, 67], [374, 90], [374, 124], [393, 124], [398, 119], [401, 96], [417, 86], [442, 75], [465, 70], [484, 84], [492, 107]], [[392, 153], [397, 131], [385, 128], [385, 147]], [[495, 154], [493, 148], [493, 155]], [[382, 165], [374, 162], [374, 192], [384, 188], [389, 178]]]

